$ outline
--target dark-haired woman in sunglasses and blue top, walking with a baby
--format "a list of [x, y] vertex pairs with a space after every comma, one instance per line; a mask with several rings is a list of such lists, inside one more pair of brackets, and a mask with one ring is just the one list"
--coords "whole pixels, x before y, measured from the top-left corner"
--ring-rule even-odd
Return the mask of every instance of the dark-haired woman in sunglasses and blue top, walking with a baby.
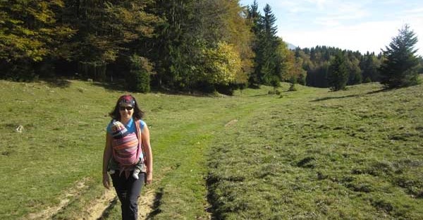
[[[143, 166], [142, 171], [138, 174], [138, 178], [130, 175], [130, 173], [133, 173], [136, 163], [133, 166], [121, 166], [119, 164], [120, 171], [116, 171], [110, 175], [116, 193], [121, 201], [122, 219], [124, 220], [137, 219], [137, 200], [140, 197], [142, 182], [145, 184], [152, 183], [153, 178], [153, 155], [149, 142], [147, 124], [141, 120], [143, 114], [135, 101], [135, 97], [130, 94], [119, 97], [114, 111], [111, 111], [109, 114], [114, 120], [123, 123], [128, 133], [134, 135], [134, 133], [137, 133], [137, 130], [140, 130], [141, 133], [140, 138], [138, 138], [138, 135], [135, 138], [135, 146], [138, 146], [137, 149], [142, 149], [139, 158], [145, 166]], [[140, 126], [137, 126], [136, 123], [139, 123]], [[103, 154], [103, 185], [107, 189], [110, 188], [109, 175], [107, 174], [109, 161], [112, 160], [118, 163], [113, 157], [115, 156], [117, 158], [116, 148], [114, 148], [116, 144], [112, 137], [111, 126], [112, 123], [109, 123], [106, 129], [106, 146], [104, 147]], [[138, 145], [138, 140], [141, 140], [142, 147]]]

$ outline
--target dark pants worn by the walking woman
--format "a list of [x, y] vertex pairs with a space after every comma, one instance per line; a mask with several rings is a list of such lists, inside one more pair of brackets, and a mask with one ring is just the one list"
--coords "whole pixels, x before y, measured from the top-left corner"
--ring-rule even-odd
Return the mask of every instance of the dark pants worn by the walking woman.
[[138, 214], [138, 197], [140, 197], [140, 192], [142, 185], [144, 184], [145, 173], [138, 174], [140, 178], [135, 180], [132, 173], [128, 177], [125, 177], [125, 173], [122, 173], [119, 176], [117, 171], [114, 174], [111, 174], [111, 181], [113, 182], [116, 193], [118, 194], [119, 200], [121, 201], [121, 210], [122, 210], [122, 219], [127, 220], [137, 220]]

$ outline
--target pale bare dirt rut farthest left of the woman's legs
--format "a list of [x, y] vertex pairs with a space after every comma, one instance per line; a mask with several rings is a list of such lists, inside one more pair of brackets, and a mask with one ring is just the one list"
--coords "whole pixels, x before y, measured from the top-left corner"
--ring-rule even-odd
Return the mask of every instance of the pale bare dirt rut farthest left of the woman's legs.
[[82, 180], [77, 181], [72, 188], [63, 193], [63, 197], [56, 206], [47, 207], [47, 209], [40, 212], [28, 214], [23, 219], [51, 219], [54, 214], [63, 209], [63, 207], [66, 207], [73, 197], [80, 195], [80, 192], [87, 188], [85, 185], [87, 181], [88, 178], [83, 178]]

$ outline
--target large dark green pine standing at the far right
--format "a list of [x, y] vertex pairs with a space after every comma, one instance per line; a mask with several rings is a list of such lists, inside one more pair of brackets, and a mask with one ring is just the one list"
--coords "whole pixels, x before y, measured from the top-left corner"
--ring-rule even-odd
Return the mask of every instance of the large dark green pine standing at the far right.
[[387, 88], [407, 87], [418, 83], [419, 60], [415, 55], [417, 49], [414, 49], [417, 37], [408, 25], [398, 31], [398, 36], [393, 37], [389, 47], [383, 51], [381, 83]]

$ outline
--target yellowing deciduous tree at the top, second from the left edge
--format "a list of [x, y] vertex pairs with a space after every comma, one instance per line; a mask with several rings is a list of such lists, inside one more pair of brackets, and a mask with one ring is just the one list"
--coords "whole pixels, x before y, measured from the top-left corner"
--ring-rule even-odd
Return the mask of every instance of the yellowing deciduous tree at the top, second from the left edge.
[[[118, 56], [130, 63], [130, 56], [140, 49], [140, 40], [152, 37], [157, 17], [146, 12], [152, 0], [65, 0], [63, 22], [69, 23], [77, 34], [69, 47], [71, 60], [79, 63], [80, 71], [92, 69], [96, 74], [86, 73], [94, 80], [102, 80], [106, 66], [115, 63]], [[103, 70], [98, 73], [97, 70]], [[123, 76], [123, 75], [122, 75]]]

